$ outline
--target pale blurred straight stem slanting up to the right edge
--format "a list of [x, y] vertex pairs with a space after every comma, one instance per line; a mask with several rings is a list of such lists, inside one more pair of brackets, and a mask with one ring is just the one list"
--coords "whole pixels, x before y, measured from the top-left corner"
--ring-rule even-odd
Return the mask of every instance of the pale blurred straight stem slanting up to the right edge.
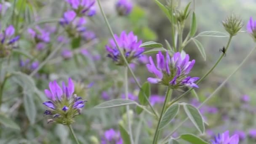
[[[219, 87], [216, 88], [216, 90], [213, 91], [213, 93], [212, 93], [207, 99], [205, 99], [205, 101], [203, 101], [202, 104], [199, 105], [198, 108], [202, 107], [207, 101], [209, 101], [209, 100], [225, 85], [225, 83], [227, 83], [227, 81], [229, 80], [229, 78], [230, 78], [232, 75], [234, 75], [235, 72], [237, 72], [237, 70], [240, 69], [240, 67], [242, 67], [242, 65], [245, 63], [245, 61], [251, 56], [251, 54], [252, 54], [253, 51], [255, 51], [255, 50], [256, 50], [256, 47], [253, 48], [253, 49], [248, 53], [248, 55], [247, 55], [247, 56], [245, 57], [245, 59], [239, 64], [239, 66], [235, 69], [235, 71], [233, 71], [233, 72], [223, 81], [223, 83], [221, 83], [221, 85], [219, 85]], [[166, 137], [163, 139], [163, 143], [164, 143], [165, 141], [167, 141], [167, 140], [169, 139], [169, 137], [170, 137], [183, 123], [185, 123], [187, 120], [188, 120], [188, 117], [187, 117], [185, 120], [183, 120], [181, 123], [179, 123], [179, 124], [177, 125], [177, 127], [174, 128], [174, 130], [173, 130], [168, 136], [166, 136]]]

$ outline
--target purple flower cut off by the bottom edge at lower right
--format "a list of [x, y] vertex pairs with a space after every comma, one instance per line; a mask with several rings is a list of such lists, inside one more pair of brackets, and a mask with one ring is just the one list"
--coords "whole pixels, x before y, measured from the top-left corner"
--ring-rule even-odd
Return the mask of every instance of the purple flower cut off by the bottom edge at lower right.
[[238, 144], [239, 136], [237, 134], [229, 137], [229, 131], [225, 131], [222, 134], [218, 134], [211, 140], [211, 144]]

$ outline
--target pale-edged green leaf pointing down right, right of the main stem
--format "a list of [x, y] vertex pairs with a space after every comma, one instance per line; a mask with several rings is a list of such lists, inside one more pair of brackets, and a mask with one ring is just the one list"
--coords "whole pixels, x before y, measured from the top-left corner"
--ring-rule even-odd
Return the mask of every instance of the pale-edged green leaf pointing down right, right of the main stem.
[[205, 125], [203, 122], [203, 117], [200, 114], [199, 110], [196, 107], [192, 106], [191, 104], [184, 104], [183, 107], [187, 116], [195, 125], [197, 130], [200, 131], [201, 133], [204, 133]]

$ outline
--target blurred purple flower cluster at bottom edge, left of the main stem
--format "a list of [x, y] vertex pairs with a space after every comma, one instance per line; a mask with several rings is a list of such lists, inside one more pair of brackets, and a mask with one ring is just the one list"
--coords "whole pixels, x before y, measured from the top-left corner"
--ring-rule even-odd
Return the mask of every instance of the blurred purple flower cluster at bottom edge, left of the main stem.
[[101, 138], [101, 144], [123, 144], [120, 132], [114, 129], [109, 129], [104, 132], [104, 137]]

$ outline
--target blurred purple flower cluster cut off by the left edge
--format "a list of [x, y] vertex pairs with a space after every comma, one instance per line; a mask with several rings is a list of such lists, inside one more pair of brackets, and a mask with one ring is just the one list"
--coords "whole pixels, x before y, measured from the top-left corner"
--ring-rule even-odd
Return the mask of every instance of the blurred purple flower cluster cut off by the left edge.
[[0, 58], [8, 56], [14, 43], [19, 40], [20, 36], [14, 36], [15, 29], [12, 25], [8, 26], [3, 33], [0, 33]]

